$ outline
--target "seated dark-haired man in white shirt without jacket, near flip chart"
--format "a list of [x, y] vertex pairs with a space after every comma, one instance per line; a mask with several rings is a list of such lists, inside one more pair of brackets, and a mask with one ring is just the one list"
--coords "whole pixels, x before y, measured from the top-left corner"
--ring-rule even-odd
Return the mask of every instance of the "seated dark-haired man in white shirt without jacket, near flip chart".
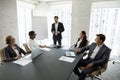
[[36, 41], [34, 40], [36, 37], [36, 33], [34, 31], [29, 32], [29, 37], [30, 37], [30, 40], [28, 42], [28, 46], [30, 47], [31, 50], [35, 49], [35, 48], [39, 48], [39, 47], [41, 47], [41, 48], [46, 47], [45, 45], [38, 45], [36, 43]]

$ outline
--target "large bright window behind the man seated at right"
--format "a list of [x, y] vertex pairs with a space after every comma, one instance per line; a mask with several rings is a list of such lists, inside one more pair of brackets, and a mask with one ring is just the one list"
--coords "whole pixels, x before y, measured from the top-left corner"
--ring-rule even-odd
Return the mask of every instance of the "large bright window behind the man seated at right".
[[106, 35], [106, 45], [112, 49], [112, 56], [120, 56], [120, 8], [95, 8], [91, 14], [90, 37]]

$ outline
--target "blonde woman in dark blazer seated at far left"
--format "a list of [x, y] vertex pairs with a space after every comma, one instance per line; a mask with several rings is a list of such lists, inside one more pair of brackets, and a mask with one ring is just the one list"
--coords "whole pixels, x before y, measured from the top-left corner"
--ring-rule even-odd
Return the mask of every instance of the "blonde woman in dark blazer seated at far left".
[[26, 54], [22, 48], [15, 44], [15, 38], [13, 36], [9, 35], [6, 37], [6, 44], [8, 44], [8, 46], [5, 47], [6, 62], [21, 58], [21, 53]]

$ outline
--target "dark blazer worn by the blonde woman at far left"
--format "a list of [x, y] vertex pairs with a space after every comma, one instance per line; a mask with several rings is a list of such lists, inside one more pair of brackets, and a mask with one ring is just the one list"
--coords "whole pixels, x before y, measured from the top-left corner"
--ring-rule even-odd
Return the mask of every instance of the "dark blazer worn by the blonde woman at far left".
[[[17, 50], [19, 51], [19, 54], [21, 55], [21, 53], [23, 53], [24, 55], [26, 54], [26, 52], [20, 48], [17, 44], [14, 44], [15, 47], [17, 48]], [[14, 58], [17, 56], [15, 51], [11, 48], [10, 45], [8, 45], [7, 47], [4, 48], [5, 50], [5, 58], [6, 58], [6, 62], [9, 62], [9, 61], [13, 61], [15, 60]]]

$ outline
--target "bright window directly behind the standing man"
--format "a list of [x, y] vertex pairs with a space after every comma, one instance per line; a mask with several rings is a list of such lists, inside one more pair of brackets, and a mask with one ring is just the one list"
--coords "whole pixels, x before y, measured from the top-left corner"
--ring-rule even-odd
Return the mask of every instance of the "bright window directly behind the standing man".
[[[63, 23], [65, 31], [62, 33], [62, 45], [70, 45], [70, 36], [71, 36], [71, 9], [72, 2], [63, 2], [63, 3], [54, 3], [50, 5], [50, 14], [48, 15], [48, 33], [49, 39], [52, 38], [51, 26], [54, 22], [54, 16], [59, 17], [59, 21]], [[51, 41], [52, 42], [52, 41]], [[53, 42], [52, 42], [53, 43]]]

